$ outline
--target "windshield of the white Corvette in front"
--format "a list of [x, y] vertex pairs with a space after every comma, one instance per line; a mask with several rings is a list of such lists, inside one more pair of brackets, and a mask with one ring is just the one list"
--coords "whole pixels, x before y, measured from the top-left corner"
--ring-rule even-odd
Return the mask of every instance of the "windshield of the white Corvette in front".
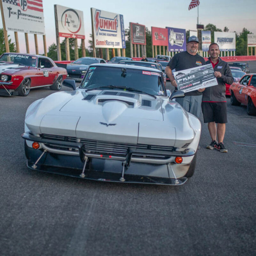
[[91, 67], [80, 87], [92, 89], [109, 85], [129, 87], [152, 95], [164, 94], [164, 85], [159, 72], [122, 67]]

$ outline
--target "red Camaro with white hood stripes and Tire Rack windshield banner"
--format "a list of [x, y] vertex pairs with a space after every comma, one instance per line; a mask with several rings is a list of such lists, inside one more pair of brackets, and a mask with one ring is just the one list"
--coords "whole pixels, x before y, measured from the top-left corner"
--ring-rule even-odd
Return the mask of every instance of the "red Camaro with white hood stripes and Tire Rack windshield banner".
[[52, 59], [32, 54], [4, 53], [0, 56], [0, 95], [27, 96], [32, 88], [50, 86], [59, 91], [67, 77], [65, 68]]

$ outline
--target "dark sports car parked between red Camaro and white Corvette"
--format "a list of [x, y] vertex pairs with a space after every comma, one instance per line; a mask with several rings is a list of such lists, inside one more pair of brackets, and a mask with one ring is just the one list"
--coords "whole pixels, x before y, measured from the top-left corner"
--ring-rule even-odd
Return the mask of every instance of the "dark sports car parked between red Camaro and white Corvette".
[[67, 65], [68, 76], [67, 78], [81, 82], [84, 75], [91, 64], [95, 63], [107, 63], [105, 60], [100, 58], [82, 57], [76, 61]]

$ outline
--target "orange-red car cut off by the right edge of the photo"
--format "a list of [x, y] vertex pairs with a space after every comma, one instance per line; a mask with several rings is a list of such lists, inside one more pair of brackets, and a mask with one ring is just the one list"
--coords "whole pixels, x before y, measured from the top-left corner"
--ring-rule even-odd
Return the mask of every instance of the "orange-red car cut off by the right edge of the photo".
[[256, 74], [246, 74], [239, 82], [230, 85], [231, 105], [247, 105], [247, 114], [256, 115]]

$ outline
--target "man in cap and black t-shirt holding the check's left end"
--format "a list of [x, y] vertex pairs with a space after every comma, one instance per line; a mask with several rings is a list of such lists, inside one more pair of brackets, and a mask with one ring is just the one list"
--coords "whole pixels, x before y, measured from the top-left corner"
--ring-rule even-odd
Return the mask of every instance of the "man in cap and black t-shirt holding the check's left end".
[[[187, 51], [176, 53], [165, 68], [166, 75], [170, 78], [173, 86], [177, 89], [177, 83], [172, 75], [172, 70], [180, 71], [188, 68], [195, 68], [205, 65], [204, 58], [197, 54], [198, 38], [190, 36], [187, 43]], [[199, 89], [193, 92], [186, 92], [184, 98], [177, 98], [176, 101], [189, 113], [198, 117], [201, 114], [202, 92], [205, 90]]]

